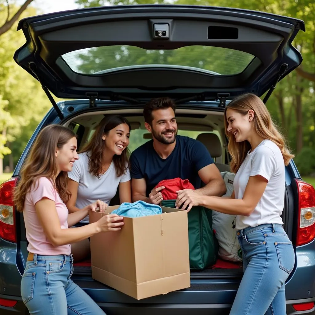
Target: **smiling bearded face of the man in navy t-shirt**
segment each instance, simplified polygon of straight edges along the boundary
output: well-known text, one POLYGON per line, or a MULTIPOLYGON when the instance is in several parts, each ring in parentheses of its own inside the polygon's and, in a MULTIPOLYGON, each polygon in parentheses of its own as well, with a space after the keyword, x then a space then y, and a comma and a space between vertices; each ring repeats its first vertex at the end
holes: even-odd
POLYGON ((152 133, 153 138, 163 144, 172 144, 177 135, 175 113, 171 107, 157 109, 152 112, 152 126, 146 123, 146 129, 152 133))

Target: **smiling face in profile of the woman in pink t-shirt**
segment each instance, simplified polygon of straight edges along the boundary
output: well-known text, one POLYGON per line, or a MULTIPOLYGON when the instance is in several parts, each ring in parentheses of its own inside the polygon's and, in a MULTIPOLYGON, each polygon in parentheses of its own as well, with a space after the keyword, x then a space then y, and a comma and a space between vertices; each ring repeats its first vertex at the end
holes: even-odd
POLYGON ((59 171, 72 171, 73 163, 79 158, 76 137, 71 138, 61 148, 57 148, 55 157, 59 171))

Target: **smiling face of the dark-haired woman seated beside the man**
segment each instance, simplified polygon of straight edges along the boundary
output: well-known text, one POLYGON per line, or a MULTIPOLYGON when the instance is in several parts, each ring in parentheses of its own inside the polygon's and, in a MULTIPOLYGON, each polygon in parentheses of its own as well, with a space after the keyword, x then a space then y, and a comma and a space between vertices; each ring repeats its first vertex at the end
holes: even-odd
POLYGON ((106 152, 121 155, 129 145, 130 130, 126 123, 121 123, 102 136, 105 140, 106 152))

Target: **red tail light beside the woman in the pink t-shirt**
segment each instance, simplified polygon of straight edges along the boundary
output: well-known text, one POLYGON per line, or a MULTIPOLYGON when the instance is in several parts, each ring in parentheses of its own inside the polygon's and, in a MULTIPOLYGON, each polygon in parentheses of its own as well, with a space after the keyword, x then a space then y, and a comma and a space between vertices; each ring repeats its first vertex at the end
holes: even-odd
POLYGON ((18 178, 13 177, 0 185, 0 238, 16 243, 13 192, 18 178))

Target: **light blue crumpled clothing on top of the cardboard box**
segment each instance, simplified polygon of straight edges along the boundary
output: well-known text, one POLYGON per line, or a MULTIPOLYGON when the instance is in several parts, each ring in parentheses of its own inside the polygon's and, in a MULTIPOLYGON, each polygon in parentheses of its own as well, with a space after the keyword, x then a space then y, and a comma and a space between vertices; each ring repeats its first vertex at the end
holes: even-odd
POLYGON ((145 215, 159 215, 162 214, 162 208, 157 204, 146 203, 142 200, 136 202, 124 202, 118 209, 112 211, 117 215, 136 218, 145 215))

